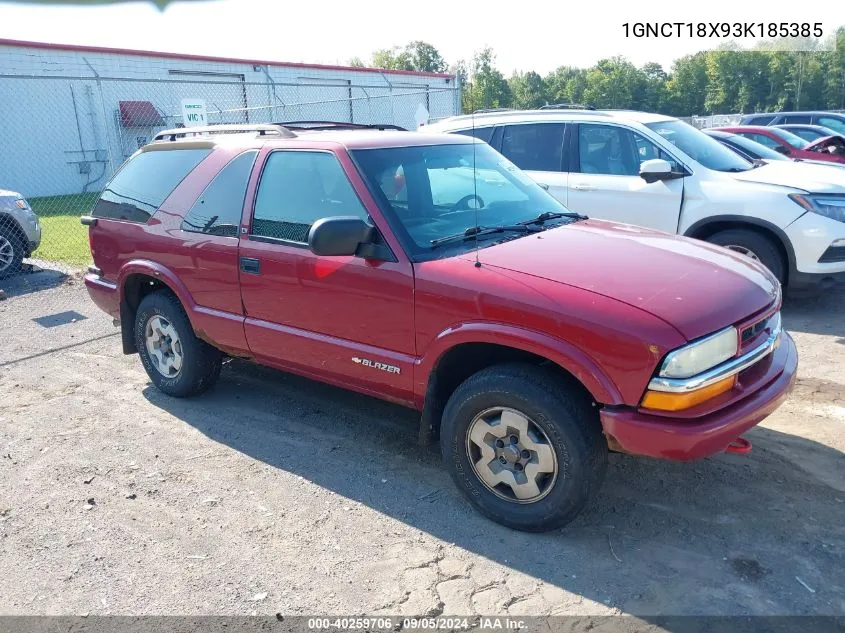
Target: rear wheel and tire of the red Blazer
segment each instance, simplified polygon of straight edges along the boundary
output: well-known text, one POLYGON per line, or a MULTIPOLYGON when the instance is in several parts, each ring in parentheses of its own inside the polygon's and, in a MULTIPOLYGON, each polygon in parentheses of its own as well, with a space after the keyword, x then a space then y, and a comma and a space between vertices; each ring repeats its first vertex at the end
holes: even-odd
POLYGON ((185 309, 169 290, 157 290, 141 300, 135 314, 135 345, 150 380, 169 396, 195 396, 214 386, 220 376, 222 353, 197 338, 185 309), (148 339, 157 352, 150 350, 148 339), (160 368, 167 360, 171 365, 165 372, 160 368))

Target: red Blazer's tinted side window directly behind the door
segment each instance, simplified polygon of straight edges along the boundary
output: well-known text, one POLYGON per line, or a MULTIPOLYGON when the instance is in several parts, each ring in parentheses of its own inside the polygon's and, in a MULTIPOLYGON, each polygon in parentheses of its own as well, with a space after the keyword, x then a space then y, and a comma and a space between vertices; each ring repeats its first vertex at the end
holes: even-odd
POLYGON ((237 237, 249 174, 258 151, 244 152, 229 161, 182 221, 182 230, 237 237))

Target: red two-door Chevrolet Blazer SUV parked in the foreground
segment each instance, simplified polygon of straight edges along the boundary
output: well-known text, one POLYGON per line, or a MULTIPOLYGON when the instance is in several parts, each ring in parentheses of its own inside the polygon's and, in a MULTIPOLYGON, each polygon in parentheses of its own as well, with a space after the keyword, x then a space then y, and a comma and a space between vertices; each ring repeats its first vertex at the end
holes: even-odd
POLYGON ((83 218, 90 295, 165 393, 227 355, 411 407, 467 498, 533 531, 609 450, 747 449, 786 398, 762 265, 571 213, 471 137, 336 127, 162 132, 83 218))

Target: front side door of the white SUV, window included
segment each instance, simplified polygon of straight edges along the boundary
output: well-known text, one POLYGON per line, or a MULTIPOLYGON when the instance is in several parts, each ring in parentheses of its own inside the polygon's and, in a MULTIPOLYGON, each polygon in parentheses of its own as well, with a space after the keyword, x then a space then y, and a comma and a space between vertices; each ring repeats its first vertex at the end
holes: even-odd
POLYGON ((650 140, 625 127, 579 123, 573 141, 566 206, 591 217, 677 233, 684 179, 647 183, 640 164, 674 162, 650 140))

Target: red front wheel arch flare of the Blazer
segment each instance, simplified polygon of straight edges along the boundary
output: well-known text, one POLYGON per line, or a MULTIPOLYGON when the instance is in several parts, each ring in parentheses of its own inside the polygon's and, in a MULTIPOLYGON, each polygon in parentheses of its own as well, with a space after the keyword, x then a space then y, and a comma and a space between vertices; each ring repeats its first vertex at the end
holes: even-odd
POLYGON ((485 367, 509 362, 546 367, 591 402, 623 402, 598 365, 565 341, 510 326, 464 325, 438 337, 419 364, 420 444, 437 437, 446 402, 464 380, 485 367))

